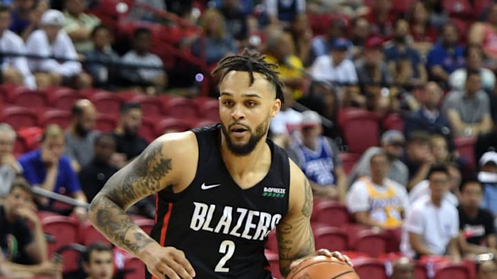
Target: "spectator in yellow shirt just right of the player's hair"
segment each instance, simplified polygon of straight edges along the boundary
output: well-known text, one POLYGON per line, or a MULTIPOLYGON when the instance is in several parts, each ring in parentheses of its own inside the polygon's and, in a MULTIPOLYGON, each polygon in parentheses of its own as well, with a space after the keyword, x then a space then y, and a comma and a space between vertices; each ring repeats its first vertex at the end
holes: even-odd
POLYGON ((293 55, 293 42, 290 34, 271 30, 266 42, 266 61, 278 65, 279 78, 292 90, 293 99, 302 97, 304 85, 304 65, 298 56, 293 55))

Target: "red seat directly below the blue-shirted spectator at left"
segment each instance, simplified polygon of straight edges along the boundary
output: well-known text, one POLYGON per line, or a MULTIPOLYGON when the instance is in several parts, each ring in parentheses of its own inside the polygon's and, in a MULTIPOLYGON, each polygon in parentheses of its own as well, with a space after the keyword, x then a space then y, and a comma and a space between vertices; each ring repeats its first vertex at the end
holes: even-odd
POLYGON ((57 249, 70 243, 78 242, 79 222, 68 216, 46 216, 41 219, 43 232, 55 239, 48 243, 48 255, 51 256, 57 249))

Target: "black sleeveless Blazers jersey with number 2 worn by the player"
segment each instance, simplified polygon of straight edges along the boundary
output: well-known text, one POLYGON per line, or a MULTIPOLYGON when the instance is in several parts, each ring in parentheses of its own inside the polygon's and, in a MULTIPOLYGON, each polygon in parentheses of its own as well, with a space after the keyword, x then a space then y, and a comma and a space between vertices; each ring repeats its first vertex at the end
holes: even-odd
POLYGON ((264 243, 289 207, 286 152, 268 139, 269 172, 260 183, 242 189, 222 160, 220 125, 193 132, 199 146, 195 178, 182 192, 166 188, 157 194, 151 236, 163 246, 184 251, 195 278, 272 278, 264 243))

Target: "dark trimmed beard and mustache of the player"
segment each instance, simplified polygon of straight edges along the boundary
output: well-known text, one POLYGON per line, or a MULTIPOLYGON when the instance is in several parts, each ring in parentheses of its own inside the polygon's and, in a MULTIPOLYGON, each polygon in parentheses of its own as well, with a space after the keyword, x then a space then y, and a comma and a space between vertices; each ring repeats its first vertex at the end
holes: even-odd
MULTIPOLYGON (((233 123, 230 125, 240 125, 239 123, 233 123)), ((237 145, 231 141, 230 133, 228 132, 228 129, 226 129, 226 126, 224 126, 223 123, 221 123, 221 131, 224 134, 224 138, 226 138, 226 145, 228 145, 228 149, 235 155, 237 156, 244 156, 251 154, 253 152, 253 149, 255 149, 255 146, 257 143, 260 142, 261 138, 266 135, 268 126, 269 126, 269 121, 264 121, 260 123, 257 127, 255 127, 255 132, 253 133, 252 130, 247 127, 246 125, 243 125, 247 131, 250 133, 250 138, 249 142, 245 143, 244 145, 237 145)))

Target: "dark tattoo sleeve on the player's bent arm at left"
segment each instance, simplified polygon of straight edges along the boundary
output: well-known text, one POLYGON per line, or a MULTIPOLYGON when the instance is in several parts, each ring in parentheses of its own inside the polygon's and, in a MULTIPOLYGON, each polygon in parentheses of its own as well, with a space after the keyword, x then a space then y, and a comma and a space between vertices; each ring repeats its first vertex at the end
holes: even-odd
POLYGON ((161 190, 160 180, 171 169, 171 159, 162 154, 162 143, 151 143, 135 161, 112 176, 92 200, 92 224, 115 245, 137 254, 154 240, 135 225, 125 210, 161 190))

